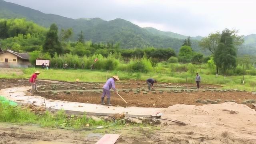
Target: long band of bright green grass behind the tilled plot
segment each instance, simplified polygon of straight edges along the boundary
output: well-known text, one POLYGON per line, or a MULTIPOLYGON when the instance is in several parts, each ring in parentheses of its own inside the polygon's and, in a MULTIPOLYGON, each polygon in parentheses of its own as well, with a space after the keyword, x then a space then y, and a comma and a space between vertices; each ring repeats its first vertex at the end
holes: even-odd
MULTIPOLYGON (((166 83, 194 83, 194 75, 188 72, 170 72, 168 68, 154 68, 154 72, 149 73, 130 73, 123 71, 95 71, 95 70, 62 70, 62 69, 50 69, 41 70, 40 68, 25 68, 22 69, 23 75, 16 74, 1 74, 0 78, 30 78, 30 76, 36 70, 39 70, 42 74, 38 76, 38 79, 46 80, 60 80, 74 82, 79 79, 81 82, 104 82, 106 78, 112 75, 118 75, 120 80, 146 80, 147 78, 154 78, 159 82, 166 83)), ((220 84, 224 86, 224 89, 233 88, 240 90, 256 91, 256 76, 245 76, 245 84, 241 84, 242 76, 218 76, 208 74, 208 70, 205 66, 201 66, 200 69, 196 70, 200 72, 202 82, 201 84, 220 84)))

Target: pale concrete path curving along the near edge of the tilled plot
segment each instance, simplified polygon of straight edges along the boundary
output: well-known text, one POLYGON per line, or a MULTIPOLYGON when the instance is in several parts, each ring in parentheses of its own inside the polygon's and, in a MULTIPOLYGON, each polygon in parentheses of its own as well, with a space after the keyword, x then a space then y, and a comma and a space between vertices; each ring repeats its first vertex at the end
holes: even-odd
MULTIPOLYGON (((5 96, 8 100, 20 102, 22 104, 31 104, 34 102, 36 106, 44 104, 44 98, 41 96, 29 96, 30 93, 26 92, 30 86, 22 86, 16 88, 7 88, 0 90, 0 96, 5 96)), ((99 98, 100 100, 100 98, 99 98)), ((45 99, 47 108, 74 110, 80 112, 96 112, 96 113, 125 113, 132 115, 150 115, 156 111, 161 111, 163 108, 139 108, 139 107, 120 107, 120 106, 102 106, 98 104, 67 102, 61 100, 48 100, 45 99)))

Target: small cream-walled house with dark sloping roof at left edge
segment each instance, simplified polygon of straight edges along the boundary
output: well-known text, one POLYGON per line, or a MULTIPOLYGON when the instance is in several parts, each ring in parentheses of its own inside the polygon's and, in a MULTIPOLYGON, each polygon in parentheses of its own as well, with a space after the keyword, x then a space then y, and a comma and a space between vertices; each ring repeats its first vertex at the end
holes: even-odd
POLYGON ((3 51, 0 49, 0 67, 2 68, 28 68, 31 66, 29 55, 14 52, 12 50, 3 51))

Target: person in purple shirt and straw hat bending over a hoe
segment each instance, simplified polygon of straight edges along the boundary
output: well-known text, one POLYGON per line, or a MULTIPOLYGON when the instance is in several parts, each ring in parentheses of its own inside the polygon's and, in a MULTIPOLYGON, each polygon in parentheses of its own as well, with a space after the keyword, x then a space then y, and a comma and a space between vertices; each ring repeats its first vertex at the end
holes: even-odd
POLYGON ((112 76, 112 78, 109 78, 105 85, 103 86, 103 94, 101 97, 101 104, 104 105, 104 97, 107 95, 107 105, 111 105, 110 104, 110 89, 112 88, 114 90, 114 92, 117 94, 116 91, 116 86, 115 86, 115 82, 118 81, 119 78, 118 76, 112 76))

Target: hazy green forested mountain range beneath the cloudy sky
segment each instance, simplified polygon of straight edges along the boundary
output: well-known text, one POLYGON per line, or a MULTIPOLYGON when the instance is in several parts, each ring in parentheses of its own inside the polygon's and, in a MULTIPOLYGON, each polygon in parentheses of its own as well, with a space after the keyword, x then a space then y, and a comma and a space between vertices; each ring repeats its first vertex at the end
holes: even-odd
MULTIPOLYGON (((173 32, 162 32, 155 28, 140 28, 129 21, 115 19, 105 21, 100 18, 80 18, 72 19, 55 14, 44 14, 38 10, 33 10, 18 4, 13 4, 0 0, 0 18, 26 18, 33 22, 49 27, 56 23, 59 28, 73 28, 72 40, 77 40, 80 31, 83 31, 86 40, 98 42, 120 43, 122 48, 145 48, 154 46, 155 48, 173 48, 176 52, 188 36, 173 32)), ((240 48, 238 54, 256 53, 256 35, 245 36, 245 44, 240 48)), ((206 54, 206 51, 198 46, 201 36, 191 38, 192 49, 206 54)), ((208 53, 210 54, 210 53, 208 53)))

